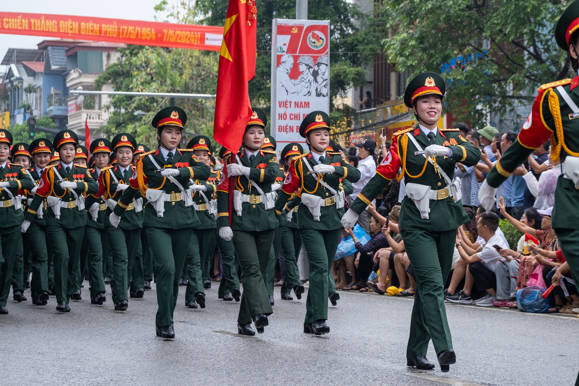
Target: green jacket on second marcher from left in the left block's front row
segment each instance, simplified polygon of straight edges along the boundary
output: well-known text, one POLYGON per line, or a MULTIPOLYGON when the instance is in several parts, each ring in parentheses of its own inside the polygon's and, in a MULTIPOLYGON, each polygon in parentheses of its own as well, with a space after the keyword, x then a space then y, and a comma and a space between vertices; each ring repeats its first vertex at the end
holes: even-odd
MULTIPOLYGON (((41 185, 36 190, 36 195, 32 199, 30 207, 26 213, 26 220, 32 221, 36 217, 36 210, 46 199, 47 196, 60 197, 63 202, 71 202, 75 200, 74 194, 72 194, 70 189, 64 190, 60 187, 60 182, 57 181, 55 170, 58 174, 66 181, 75 181, 76 189, 74 190, 78 196, 83 193, 94 194, 98 191, 97 182, 93 179, 90 173, 86 172, 85 166, 72 165, 70 173, 67 174, 63 164, 58 163, 58 165, 47 166, 45 172, 42 174, 41 185)), ((30 181, 30 178, 28 178, 30 181)), ((30 181, 32 184, 32 181, 30 181)), ((86 202, 85 202, 86 206, 86 202)), ((61 228, 78 228, 86 225, 86 213, 84 210, 78 210, 78 207, 67 208, 63 207, 60 209, 60 219, 54 217, 54 212, 49 206, 45 211, 43 217, 46 217, 46 225, 54 225, 61 228)))

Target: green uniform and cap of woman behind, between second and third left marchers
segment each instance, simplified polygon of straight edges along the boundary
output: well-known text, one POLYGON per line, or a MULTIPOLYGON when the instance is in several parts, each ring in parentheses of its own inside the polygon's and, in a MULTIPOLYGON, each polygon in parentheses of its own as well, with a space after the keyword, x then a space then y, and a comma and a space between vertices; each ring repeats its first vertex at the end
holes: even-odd
MULTIPOLYGON (((104 138, 97 138, 90 144, 91 154, 104 152, 111 153, 111 141, 104 138)), ((95 181, 100 179, 103 169, 87 169, 95 181)), ((108 248, 105 250, 103 245, 108 246, 107 232, 105 231, 105 213, 107 211, 107 200, 104 191, 99 187, 95 194, 86 195, 85 210, 87 215, 85 227, 85 240, 83 243, 88 245, 88 265, 89 265, 89 283, 90 283, 90 304, 102 304, 107 301, 105 296, 105 281, 102 270, 105 252, 108 255, 108 248)), ((82 272, 82 270, 81 270, 82 272)))

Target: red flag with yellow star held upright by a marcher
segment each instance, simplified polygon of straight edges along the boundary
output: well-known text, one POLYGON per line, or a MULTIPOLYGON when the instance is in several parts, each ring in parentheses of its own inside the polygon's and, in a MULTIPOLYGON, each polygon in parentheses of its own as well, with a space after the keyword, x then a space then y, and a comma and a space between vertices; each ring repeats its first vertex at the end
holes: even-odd
POLYGON ((254 0, 229 0, 219 52, 213 137, 233 154, 251 116, 247 82, 255 75, 256 12, 254 0))

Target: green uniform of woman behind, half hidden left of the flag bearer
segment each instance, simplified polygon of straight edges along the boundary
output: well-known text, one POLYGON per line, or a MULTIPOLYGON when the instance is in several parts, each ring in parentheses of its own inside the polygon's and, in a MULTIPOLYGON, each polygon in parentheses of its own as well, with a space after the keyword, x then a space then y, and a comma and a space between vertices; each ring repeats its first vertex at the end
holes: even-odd
MULTIPOLYGON (((196 136, 189 141, 187 148, 193 152, 210 152, 211 140, 207 136, 196 136)), ((194 191, 191 210, 195 210, 201 223, 193 229, 185 262, 186 275, 189 278, 185 290, 185 305, 189 308, 196 308, 195 301, 201 308, 205 308, 204 281, 209 279, 216 244, 217 205, 212 201, 212 195, 217 192, 217 180, 215 172, 211 172, 207 180, 189 180, 189 188, 194 191)))

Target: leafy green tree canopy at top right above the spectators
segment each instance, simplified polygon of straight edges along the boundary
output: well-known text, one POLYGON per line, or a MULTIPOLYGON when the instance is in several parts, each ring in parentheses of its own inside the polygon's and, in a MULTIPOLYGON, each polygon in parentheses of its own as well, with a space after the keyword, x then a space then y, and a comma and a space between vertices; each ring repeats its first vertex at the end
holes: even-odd
POLYGON ((512 113, 532 102, 541 83, 568 75, 553 36, 567 3, 384 0, 380 12, 394 32, 384 45, 400 71, 444 68, 447 111, 478 125, 487 112, 512 113))

